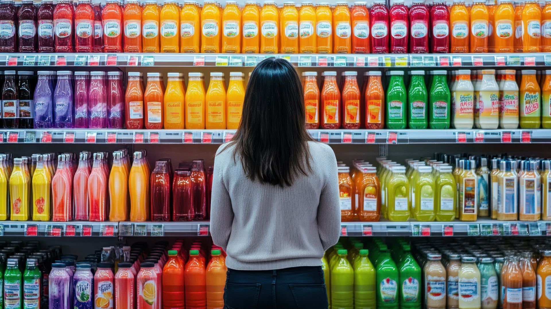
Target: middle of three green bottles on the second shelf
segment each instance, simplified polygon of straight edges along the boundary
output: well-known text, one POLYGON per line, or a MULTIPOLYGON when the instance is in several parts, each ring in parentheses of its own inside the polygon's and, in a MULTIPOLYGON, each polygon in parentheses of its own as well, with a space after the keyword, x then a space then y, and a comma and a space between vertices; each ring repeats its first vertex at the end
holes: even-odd
POLYGON ((428 102, 429 98, 425 86, 425 71, 412 71, 408 90, 409 129, 426 129, 429 125, 428 102))

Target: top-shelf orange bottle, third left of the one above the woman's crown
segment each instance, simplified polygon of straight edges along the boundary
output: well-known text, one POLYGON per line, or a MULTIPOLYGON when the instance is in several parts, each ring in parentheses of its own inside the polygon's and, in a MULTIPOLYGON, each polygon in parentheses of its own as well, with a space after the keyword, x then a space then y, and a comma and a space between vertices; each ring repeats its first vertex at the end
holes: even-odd
POLYGON ((205 1, 201 10, 201 52, 220 52, 222 12, 216 4, 205 1))

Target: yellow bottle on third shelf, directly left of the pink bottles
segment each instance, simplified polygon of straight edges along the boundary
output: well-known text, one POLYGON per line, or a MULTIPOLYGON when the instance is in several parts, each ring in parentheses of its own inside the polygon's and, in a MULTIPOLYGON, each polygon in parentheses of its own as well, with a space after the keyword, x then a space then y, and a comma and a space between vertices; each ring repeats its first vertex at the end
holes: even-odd
POLYGON ((33 174, 33 221, 50 221, 50 190, 52 178, 44 165, 42 155, 36 158, 36 168, 33 174))

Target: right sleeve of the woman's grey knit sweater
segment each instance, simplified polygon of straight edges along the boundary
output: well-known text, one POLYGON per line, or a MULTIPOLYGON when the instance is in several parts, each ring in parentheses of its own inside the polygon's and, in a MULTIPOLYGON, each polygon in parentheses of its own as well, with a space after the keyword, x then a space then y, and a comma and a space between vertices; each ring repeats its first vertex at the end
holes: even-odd
MULTIPOLYGON (((326 147, 329 148, 329 146, 326 147)), ((337 158, 331 148, 325 152, 325 155, 327 158, 325 186, 321 191, 320 205, 317 207, 317 228, 323 251, 337 243, 340 236, 339 228, 341 227, 337 158)))

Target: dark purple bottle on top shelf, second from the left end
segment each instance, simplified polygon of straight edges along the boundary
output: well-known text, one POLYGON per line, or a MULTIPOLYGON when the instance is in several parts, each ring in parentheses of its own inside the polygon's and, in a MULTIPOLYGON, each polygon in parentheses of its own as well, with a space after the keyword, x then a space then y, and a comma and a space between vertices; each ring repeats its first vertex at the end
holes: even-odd
POLYGON ((17 12, 19 52, 36 52, 36 7, 33 0, 23 0, 17 12))

